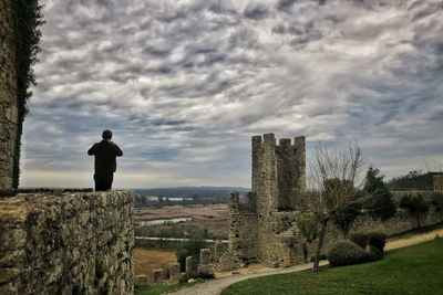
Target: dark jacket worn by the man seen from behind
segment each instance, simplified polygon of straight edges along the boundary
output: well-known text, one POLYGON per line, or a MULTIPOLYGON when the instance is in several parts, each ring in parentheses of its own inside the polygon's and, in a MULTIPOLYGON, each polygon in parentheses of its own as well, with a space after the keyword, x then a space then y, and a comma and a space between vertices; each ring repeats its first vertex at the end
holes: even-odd
POLYGON ((94 144, 87 155, 95 156, 95 175, 109 175, 115 172, 117 168, 116 157, 122 157, 123 151, 114 143, 102 140, 94 144))

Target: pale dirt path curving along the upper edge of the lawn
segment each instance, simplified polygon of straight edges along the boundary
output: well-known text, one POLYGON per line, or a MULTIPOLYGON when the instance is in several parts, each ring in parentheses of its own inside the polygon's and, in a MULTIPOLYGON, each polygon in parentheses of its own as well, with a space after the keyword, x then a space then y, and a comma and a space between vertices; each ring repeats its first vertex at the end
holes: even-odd
MULTIPOLYGON (((415 234, 398 240, 392 240, 388 241, 385 250, 393 250, 393 249, 399 249, 403 246, 409 246, 409 245, 414 245, 419 244, 422 242, 426 242, 430 240, 435 239, 435 235, 439 234, 440 236, 443 236, 443 229, 434 230, 427 233, 421 233, 421 234, 415 234)), ((327 261, 321 262, 320 265, 326 265, 328 264, 327 261)), ((218 295, 222 293, 224 288, 227 286, 248 280, 253 277, 260 277, 260 276, 267 276, 267 275, 274 275, 274 274, 286 274, 286 273, 295 273, 295 272, 301 272, 312 268, 312 263, 308 264, 302 264, 302 265, 296 265, 287 268, 277 268, 277 270, 256 270, 257 273, 250 273, 250 274, 235 274, 213 281, 205 282, 203 284, 197 284, 192 287, 186 287, 182 288, 179 291, 168 293, 168 295, 218 295), (265 273, 261 273, 264 272, 265 273)))

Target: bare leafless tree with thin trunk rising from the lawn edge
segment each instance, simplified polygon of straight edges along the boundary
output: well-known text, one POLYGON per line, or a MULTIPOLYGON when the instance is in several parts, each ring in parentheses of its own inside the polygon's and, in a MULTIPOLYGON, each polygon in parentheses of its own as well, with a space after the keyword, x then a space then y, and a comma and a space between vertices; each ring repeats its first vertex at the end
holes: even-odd
POLYGON ((347 150, 331 150, 323 145, 316 149, 315 162, 310 166, 309 206, 320 224, 316 259, 312 271, 318 272, 328 223, 332 218, 346 214, 347 208, 356 200, 356 191, 363 186, 360 179, 365 159, 357 143, 350 143, 347 150))

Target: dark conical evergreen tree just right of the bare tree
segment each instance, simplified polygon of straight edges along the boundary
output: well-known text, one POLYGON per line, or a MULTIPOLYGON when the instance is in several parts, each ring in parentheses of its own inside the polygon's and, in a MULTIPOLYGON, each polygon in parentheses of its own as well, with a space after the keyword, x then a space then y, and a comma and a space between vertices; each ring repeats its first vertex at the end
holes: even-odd
POLYGON ((384 176, 380 175, 379 169, 369 167, 363 188, 368 198, 363 208, 372 219, 387 221, 395 214, 396 207, 392 193, 384 183, 383 178, 384 176))

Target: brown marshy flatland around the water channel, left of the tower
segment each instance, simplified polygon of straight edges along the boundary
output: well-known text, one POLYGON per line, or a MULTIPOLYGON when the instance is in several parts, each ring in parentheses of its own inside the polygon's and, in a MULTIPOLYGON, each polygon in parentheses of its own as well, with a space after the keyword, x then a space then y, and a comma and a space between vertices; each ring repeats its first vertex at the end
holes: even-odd
POLYGON ((172 219, 189 217, 192 221, 186 221, 176 224, 163 224, 146 228, 143 235, 148 236, 167 236, 167 238, 187 238, 176 235, 174 233, 183 234, 188 232, 190 234, 200 234, 206 229, 212 239, 227 239, 228 234, 228 210, 226 204, 210 204, 210 206, 173 206, 164 207, 161 209, 135 209, 135 221, 156 220, 156 219, 172 219), (161 235, 158 233, 164 233, 161 235))

